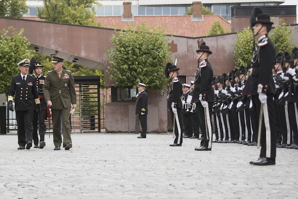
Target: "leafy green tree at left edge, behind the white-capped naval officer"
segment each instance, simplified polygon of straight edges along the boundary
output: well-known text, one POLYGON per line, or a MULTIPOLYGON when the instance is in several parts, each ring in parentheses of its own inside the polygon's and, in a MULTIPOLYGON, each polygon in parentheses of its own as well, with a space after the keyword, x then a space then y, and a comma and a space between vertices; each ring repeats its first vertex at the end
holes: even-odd
POLYGON ((1 94, 7 94, 12 76, 20 73, 17 63, 25 58, 30 59, 34 53, 33 50, 28 50, 30 43, 22 36, 23 32, 23 29, 17 32, 12 26, 0 31, 1 94))

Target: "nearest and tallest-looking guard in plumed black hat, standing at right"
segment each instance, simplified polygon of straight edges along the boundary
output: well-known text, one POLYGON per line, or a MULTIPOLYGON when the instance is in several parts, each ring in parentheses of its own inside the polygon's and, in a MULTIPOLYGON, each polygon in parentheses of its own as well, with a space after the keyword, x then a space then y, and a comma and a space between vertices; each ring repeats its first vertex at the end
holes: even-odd
POLYGON ((256 113, 256 126, 259 126, 259 122, 261 122, 261 152, 256 161, 249 162, 253 165, 275 165, 276 129, 273 106, 275 85, 272 77, 275 49, 267 36, 272 24, 270 16, 264 14, 261 8, 254 9, 251 16, 251 27, 253 35, 257 37, 257 43, 251 60, 249 77, 243 90, 244 95, 252 97, 253 109, 256 113), (263 119, 259 121, 261 107, 263 107, 263 119))

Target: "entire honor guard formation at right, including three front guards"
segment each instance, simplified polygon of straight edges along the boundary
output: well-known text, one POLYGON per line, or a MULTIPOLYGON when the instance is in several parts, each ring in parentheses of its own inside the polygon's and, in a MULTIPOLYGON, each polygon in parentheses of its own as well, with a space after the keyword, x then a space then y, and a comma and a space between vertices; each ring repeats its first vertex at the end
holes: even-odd
POLYGON ((165 66, 175 134, 170 146, 181 146, 182 137, 200 139, 196 151, 211 151, 212 142, 261 146, 252 165, 275 165, 276 147, 298 149, 298 49, 276 55, 268 38, 272 24, 261 8, 254 9, 250 27, 257 42, 247 66, 214 76, 205 43, 196 51, 198 68, 190 84, 181 84, 175 65, 165 66))

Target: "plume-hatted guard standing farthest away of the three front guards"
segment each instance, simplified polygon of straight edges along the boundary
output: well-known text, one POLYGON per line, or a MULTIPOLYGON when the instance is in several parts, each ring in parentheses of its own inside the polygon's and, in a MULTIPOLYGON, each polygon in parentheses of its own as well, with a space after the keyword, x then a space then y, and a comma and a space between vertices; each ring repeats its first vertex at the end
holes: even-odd
POLYGON ((174 143, 170 146, 182 146, 182 84, 178 78, 178 70, 175 65, 167 63, 164 69, 164 74, 167 78, 172 80, 168 92, 167 108, 171 111, 171 118, 173 123, 173 130, 175 134, 174 143))

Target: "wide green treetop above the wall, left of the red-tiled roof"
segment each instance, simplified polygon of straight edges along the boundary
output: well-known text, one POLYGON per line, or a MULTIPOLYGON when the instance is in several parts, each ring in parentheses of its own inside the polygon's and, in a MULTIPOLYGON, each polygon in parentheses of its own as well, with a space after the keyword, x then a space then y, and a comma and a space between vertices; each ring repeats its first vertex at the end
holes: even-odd
POLYGON ((95 22, 96 0, 43 0, 44 8, 38 9, 38 17, 46 21, 77 25, 99 26, 95 22))

